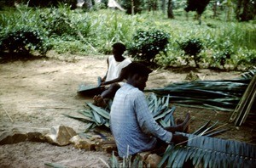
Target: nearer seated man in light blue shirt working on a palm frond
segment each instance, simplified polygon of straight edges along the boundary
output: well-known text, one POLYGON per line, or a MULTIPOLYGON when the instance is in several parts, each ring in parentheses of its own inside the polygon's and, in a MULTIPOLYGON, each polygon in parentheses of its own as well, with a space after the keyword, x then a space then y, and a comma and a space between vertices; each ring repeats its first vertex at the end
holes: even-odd
POLYGON ((113 98, 110 111, 110 128, 120 157, 143 151, 167 147, 169 143, 183 143, 188 137, 175 134, 188 126, 190 115, 177 126, 162 128, 148 110, 143 93, 152 70, 143 64, 131 63, 126 68, 126 83, 113 98))

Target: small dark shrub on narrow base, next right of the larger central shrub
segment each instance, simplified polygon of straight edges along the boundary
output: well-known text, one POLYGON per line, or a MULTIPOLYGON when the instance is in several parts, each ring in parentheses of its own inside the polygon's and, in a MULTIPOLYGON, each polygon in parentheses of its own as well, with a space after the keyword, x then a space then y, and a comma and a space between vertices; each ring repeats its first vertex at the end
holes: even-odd
POLYGON ((179 48, 184 52, 184 59, 187 64, 189 64, 189 59, 194 59, 196 67, 199 67, 199 62, 201 60, 201 50, 203 48, 203 43, 199 38, 190 38, 183 42, 178 42, 179 48), (189 56, 189 57, 188 57, 189 56))

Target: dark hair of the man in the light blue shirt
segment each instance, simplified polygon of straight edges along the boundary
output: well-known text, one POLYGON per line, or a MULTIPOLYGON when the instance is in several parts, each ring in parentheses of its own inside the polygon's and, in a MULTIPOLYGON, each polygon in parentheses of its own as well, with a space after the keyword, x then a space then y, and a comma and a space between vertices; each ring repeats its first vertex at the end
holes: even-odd
POLYGON ((128 64, 124 69, 125 78, 127 78, 128 76, 133 76, 135 74, 141 76, 148 76, 148 74, 152 72, 152 70, 150 70, 147 66, 139 62, 131 62, 131 64, 128 64))

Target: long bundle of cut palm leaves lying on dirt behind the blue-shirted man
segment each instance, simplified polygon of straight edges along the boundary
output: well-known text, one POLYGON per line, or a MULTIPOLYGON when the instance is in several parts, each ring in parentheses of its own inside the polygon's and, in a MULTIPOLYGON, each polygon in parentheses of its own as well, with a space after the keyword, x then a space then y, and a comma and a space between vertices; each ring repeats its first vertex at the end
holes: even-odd
POLYGON ((251 79, 191 81, 148 89, 159 96, 169 95, 170 103, 204 109, 232 111, 251 79))

